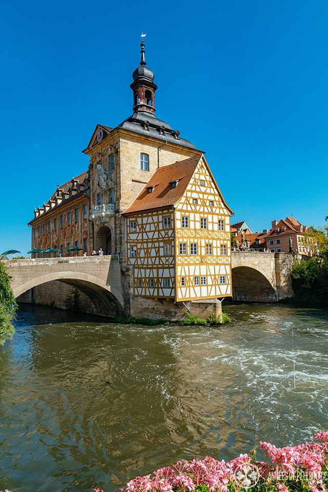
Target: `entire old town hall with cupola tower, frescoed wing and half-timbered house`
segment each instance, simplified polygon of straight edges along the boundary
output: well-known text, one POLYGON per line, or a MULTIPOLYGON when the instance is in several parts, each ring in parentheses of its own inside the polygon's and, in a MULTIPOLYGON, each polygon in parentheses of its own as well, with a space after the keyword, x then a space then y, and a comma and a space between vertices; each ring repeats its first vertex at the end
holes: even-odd
POLYGON ((231 296, 232 211, 202 152, 155 116, 143 40, 132 76, 132 116, 96 126, 89 169, 34 211, 32 249, 116 255, 126 314, 172 317, 185 301, 231 296))

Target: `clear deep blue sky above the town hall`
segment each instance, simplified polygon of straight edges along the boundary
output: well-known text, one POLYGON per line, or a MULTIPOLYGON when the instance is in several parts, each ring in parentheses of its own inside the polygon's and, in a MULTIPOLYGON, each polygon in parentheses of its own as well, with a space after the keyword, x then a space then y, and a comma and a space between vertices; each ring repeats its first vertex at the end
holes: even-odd
POLYGON ((328 215, 326 0, 0 4, 0 253, 88 168, 95 126, 132 113, 147 33, 156 115, 206 151, 232 222, 253 231, 328 215))

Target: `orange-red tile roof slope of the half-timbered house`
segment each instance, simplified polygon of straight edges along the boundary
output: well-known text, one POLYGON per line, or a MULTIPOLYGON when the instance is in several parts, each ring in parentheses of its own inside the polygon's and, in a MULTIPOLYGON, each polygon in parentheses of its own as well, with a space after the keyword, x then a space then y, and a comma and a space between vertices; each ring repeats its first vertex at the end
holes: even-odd
POLYGON ((175 162, 170 166, 158 168, 124 213, 129 214, 174 205, 185 193, 201 157, 202 154, 175 162), (177 183, 176 188, 171 189, 172 182, 177 183), (154 187, 153 191, 148 193, 148 189, 151 187, 154 187))

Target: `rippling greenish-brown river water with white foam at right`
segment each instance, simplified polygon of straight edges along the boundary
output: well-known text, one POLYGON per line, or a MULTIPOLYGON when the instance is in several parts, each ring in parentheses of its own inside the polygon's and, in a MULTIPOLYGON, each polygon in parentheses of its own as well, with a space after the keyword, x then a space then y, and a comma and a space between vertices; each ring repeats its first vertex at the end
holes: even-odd
POLYGON ((328 429, 328 311, 226 309, 223 327, 149 327, 20 305, 0 348, 0 490, 109 492, 328 429))

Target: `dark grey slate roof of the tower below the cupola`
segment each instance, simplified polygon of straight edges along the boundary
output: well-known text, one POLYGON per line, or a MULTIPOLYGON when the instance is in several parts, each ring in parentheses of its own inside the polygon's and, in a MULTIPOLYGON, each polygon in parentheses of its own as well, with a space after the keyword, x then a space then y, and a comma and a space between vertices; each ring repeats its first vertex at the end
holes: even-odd
POLYGON ((189 140, 184 138, 175 138, 175 131, 168 125, 165 121, 162 121, 152 113, 148 111, 136 111, 132 116, 123 121, 117 128, 123 128, 129 130, 130 132, 140 133, 141 135, 146 135, 159 140, 172 142, 176 145, 181 145, 182 147, 189 147, 190 149, 197 149, 189 140), (144 123, 148 121, 149 130, 145 130, 144 123), (164 135, 159 132, 160 127, 163 127, 164 135))

